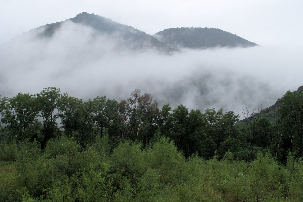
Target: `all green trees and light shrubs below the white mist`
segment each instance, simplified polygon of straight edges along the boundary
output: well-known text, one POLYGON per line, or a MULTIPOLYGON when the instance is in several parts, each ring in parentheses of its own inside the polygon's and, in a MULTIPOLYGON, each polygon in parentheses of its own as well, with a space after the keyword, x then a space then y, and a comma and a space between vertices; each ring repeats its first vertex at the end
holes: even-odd
POLYGON ((0 201, 303 201, 302 98, 288 91, 239 121, 159 108, 137 89, 0 97, 0 201))

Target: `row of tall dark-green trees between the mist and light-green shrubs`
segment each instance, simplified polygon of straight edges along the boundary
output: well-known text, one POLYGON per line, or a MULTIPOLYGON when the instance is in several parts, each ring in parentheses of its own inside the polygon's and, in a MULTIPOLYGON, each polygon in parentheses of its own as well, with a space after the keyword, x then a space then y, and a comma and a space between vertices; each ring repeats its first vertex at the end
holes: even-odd
POLYGON ((36 139, 42 149, 50 139, 65 135, 84 147, 95 137, 108 134, 112 147, 129 139, 151 140, 165 135, 180 151, 209 159, 223 157, 230 151, 236 159, 254 160, 258 151, 270 151, 284 162, 289 151, 303 153, 303 93, 288 91, 279 101, 279 123, 272 125, 258 110, 243 111, 244 125, 235 125, 239 116, 223 109, 188 110, 180 104, 161 109, 153 96, 136 89, 127 99, 116 101, 106 96, 88 101, 61 94, 55 87, 40 93, 18 93, 12 98, 0 97, 1 140, 36 139))

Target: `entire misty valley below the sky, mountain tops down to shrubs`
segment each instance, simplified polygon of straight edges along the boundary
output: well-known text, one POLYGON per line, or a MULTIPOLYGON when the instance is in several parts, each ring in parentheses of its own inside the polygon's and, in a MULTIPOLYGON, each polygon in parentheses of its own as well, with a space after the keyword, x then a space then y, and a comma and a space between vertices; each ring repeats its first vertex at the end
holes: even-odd
POLYGON ((0 201, 303 201, 295 50, 82 12, 0 53, 0 201))

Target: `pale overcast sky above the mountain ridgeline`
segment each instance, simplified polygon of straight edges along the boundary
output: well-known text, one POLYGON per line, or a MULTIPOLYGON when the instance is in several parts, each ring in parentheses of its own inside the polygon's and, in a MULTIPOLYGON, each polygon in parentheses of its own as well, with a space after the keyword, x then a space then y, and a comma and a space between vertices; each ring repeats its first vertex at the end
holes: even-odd
POLYGON ((302 0, 1 0, 0 44, 80 12, 101 15, 148 34, 165 28, 213 27, 259 45, 303 45, 302 0))

